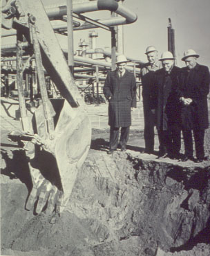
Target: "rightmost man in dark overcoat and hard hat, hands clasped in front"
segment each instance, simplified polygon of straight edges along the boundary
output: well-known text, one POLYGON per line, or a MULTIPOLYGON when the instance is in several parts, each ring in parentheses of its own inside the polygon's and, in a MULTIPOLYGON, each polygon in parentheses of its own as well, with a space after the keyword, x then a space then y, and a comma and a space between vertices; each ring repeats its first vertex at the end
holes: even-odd
POLYGON ((204 157, 204 131, 209 127, 207 95, 210 74, 206 66, 197 63, 199 55, 189 49, 182 60, 186 67, 180 73, 180 101, 182 103, 182 133, 184 138, 184 161, 193 159, 193 137, 195 140, 195 162, 204 157), (192 137, 193 131, 193 137, 192 137))

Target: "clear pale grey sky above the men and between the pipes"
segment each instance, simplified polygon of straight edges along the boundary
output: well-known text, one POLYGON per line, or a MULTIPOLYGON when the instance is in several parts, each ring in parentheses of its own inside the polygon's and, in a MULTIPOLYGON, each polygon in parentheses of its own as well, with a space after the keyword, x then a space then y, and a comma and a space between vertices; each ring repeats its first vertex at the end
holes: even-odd
MULTIPOLYGON (((106 0, 104 0, 106 1, 106 0)), ((45 5, 54 5, 58 0, 43 0, 45 5)), ((61 0, 61 3, 65 3, 61 0)), ((167 51, 167 26, 169 17, 175 30, 175 51, 177 64, 184 66, 181 58, 187 49, 194 49, 200 58, 198 62, 210 68, 210 0, 124 0, 124 6, 137 14, 137 21, 124 25, 124 54, 146 62, 145 49, 154 45, 159 56, 167 51)), ((85 14, 93 19, 110 17, 110 12, 99 11, 85 14)), ((93 30, 92 30, 93 31, 93 30)), ((94 29, 99 33, 97 48, 111 46, 111 33, 102 28, 94 29)), ((89 31, 75 31, 74 48, 78 49, 79 40, 88 42, 89 31)), ((11 41, 12 42, 12 41, 11 41)), ((59 37, 64 48, 67 40, 59 37)), ((4 40, 2 40, 4 44, 4 40)))

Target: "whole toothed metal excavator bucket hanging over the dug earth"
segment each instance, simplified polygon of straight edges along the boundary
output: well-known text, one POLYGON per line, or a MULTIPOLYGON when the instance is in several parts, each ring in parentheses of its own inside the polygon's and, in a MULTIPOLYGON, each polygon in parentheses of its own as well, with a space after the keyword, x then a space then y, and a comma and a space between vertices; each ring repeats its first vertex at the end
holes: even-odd
POLYGON ((32 121, 37 129, 33 137, 36 142, 28 142, 25 146, 33 183, 26 209, 32 210, 36 203, 36 213, 45 208, 49 213, 65 209, 77 172, 90 148, 91 126, 88 116, 77 108, 72 110, 64 99, 52 100, 52 105, 56 113, 54 132, 48 139, 44 139, 45 120, 40 105, 32 121), (37 144, 40 144, 41 151, 37 144))

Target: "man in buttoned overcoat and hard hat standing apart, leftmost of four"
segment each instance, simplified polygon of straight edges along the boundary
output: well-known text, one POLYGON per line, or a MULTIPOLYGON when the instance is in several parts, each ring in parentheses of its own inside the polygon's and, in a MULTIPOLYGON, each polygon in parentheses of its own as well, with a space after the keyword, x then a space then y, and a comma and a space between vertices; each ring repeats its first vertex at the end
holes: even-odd
POLYGON ((136 108, 136 83, 134 75, 126 70, 125 56, 117 56, 117 70, 108 72, 104 84, 104 95, 108 100, 108 125, 110 142, 108 154, 117 149, 121 127, 121 150, 126 151, 131 126, 131 108, 136 108))

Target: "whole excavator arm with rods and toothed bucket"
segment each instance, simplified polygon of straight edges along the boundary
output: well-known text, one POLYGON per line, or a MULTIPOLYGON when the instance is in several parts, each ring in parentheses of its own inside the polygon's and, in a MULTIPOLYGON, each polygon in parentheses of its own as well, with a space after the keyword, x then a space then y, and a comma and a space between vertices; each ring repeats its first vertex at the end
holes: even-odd
POLYGON ((77 172, 88 154, 90 119, 41 0, 4 0, 3 28, 17 30, 17 90, 21 131, 8 135, 23 146, 32 180, 26 210, 60 213, 68 204, 77 172), (28 60, 23 62, 23 46, 28 60), (23 71, 35 58, 40 103, 28 111, 23 71), (44 69, 62 98, 48 99, 44 69))

